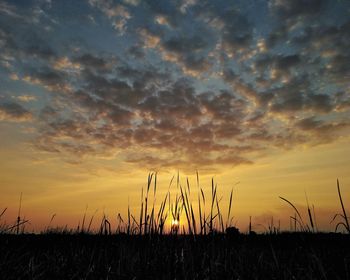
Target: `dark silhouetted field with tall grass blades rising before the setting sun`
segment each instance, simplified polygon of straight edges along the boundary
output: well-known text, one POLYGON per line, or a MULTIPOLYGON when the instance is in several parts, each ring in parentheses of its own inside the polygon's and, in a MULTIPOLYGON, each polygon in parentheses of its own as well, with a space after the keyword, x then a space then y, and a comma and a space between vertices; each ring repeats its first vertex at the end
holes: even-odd
POLYGON ((222 213, 214 180, 211 196, 205 197, 198 175, 196 195, 188 180, 182 187, 178 178, 171 188, 173 179, 156 207, 157 177, 150 174, 140 213, 128 209, 125 219, 118 214, 116 228, 104 216, 93 230, 94 216, 84 214, 76 229, 49 225, 32 234, 25 231, 28 221, 22 219, 20 206, 16 223, 0 227, 0 278, 350 279, 350 228, 339 182, 342 213, 332 222, 343 233, 319 232, 309 205, 303 219, 292 202, 280 197, 295 212, 290 217, 293 232, 281 232, 271 223, 263 233, 256 234, 249 225, 241 234, 232 226, 232 191, 228 213, 222 213))

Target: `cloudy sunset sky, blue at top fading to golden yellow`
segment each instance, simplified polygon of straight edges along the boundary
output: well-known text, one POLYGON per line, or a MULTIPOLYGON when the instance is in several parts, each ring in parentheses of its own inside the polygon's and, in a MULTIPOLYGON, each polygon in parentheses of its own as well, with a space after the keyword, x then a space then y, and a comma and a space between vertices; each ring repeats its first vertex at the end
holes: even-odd
POLYGON ((198 171, 224 204, 234 188, 242 230, 288 228, 278 196, 334 229, 349 47, 347 0, 0 1, 0 223, 21 193, 30 230, 113 220, 149 172, 165 193, 198 171))

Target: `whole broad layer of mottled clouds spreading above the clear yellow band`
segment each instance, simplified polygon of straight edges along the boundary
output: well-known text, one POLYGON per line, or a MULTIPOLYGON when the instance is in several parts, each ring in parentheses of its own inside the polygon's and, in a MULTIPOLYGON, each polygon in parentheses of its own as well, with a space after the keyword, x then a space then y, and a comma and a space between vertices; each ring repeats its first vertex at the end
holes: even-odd
MULTIPOLYGON (((28 103, 42 106, 38 149, 70 162, 209 168, 347 133, 349 21, 329 18, 323 1, 261 2, 254 13, 228 1, 90 0, 82 8, 93 26, 84 17, 45 32, 23 20, 0 27, 4 82, 45 96, 28 103)), ((2 118, 33 120, 20 108, 22 117, 2 108, 2 118)))

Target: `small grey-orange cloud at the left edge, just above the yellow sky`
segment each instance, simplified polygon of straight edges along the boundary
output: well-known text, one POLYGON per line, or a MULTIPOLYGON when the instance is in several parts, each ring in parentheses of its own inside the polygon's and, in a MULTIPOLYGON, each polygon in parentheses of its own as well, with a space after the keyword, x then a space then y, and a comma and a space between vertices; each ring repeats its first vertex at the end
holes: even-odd
POLYGON ((0 121, 27 122, 32 118, 32 113, 18 103, 0 103, 0 121))

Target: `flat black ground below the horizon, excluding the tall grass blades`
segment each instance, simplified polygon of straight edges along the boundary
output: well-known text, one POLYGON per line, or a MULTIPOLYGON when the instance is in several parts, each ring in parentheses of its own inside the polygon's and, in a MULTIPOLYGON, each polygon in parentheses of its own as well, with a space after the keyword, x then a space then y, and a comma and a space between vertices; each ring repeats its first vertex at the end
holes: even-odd
POLYGON ((350 279, 350 236, 0 235, 1 279, 350 279))

